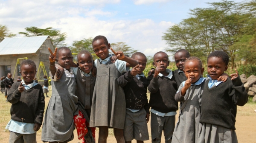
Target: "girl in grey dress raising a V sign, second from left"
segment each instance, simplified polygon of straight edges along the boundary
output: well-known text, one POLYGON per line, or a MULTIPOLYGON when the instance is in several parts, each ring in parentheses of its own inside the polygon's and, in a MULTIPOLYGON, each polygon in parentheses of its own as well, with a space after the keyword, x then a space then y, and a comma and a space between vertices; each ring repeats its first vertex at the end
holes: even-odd
POLYGON ((73 140, 75 129, 73 115, 78 115, 78 97, 76 92, 76 79, 73 74, 73 56, 67 47, 55 48, 49 56, 50 77, 52 79, 52 96, 50 98, 42 128, 43 142, 67 143, 73 140), (57 79, 55 61, 64 68, 65 74, 57 79))

